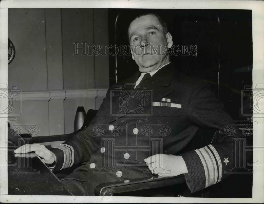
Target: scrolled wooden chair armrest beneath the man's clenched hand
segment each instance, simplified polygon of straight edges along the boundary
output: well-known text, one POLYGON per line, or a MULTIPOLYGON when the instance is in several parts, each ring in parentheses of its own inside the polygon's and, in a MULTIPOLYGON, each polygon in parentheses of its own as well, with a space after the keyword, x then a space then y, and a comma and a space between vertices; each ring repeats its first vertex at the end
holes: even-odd
POLYGON ((113 196, 116 193, 165 187, 182 183, 185 183, 185 177, 183 174, 175 177, 159 177, 158 175, 154 175, 151 177, 99 184, 95 188, 95 195, 113 196))

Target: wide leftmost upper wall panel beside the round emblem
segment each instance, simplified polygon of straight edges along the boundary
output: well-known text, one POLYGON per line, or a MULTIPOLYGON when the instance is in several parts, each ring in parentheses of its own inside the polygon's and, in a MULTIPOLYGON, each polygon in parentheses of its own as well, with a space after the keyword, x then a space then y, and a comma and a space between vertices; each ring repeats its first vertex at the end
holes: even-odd
POLYGON ((8 9, 8 37, 16 49, 8 65, 8 85, 22 91, 47 90, 44 8, 8 9))

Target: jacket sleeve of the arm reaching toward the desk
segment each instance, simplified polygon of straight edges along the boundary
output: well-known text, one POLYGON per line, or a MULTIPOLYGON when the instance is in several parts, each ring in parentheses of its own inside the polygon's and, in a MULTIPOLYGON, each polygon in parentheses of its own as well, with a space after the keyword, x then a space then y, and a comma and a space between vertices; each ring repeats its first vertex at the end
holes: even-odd
MULTIPOLYGON (((108 95, 109 91, 106 96, 108 95)), ((107 100, 107 97, 103 99, 96 116, 85 130, 78 132, 64 143, 50 149, 56 156, 54 172, 88 161, 91 155, 100 148, 101 136, 94 133, 94 127, 97 124, 104 124, 105 119, 109 117, 106 110, 107 100)))

